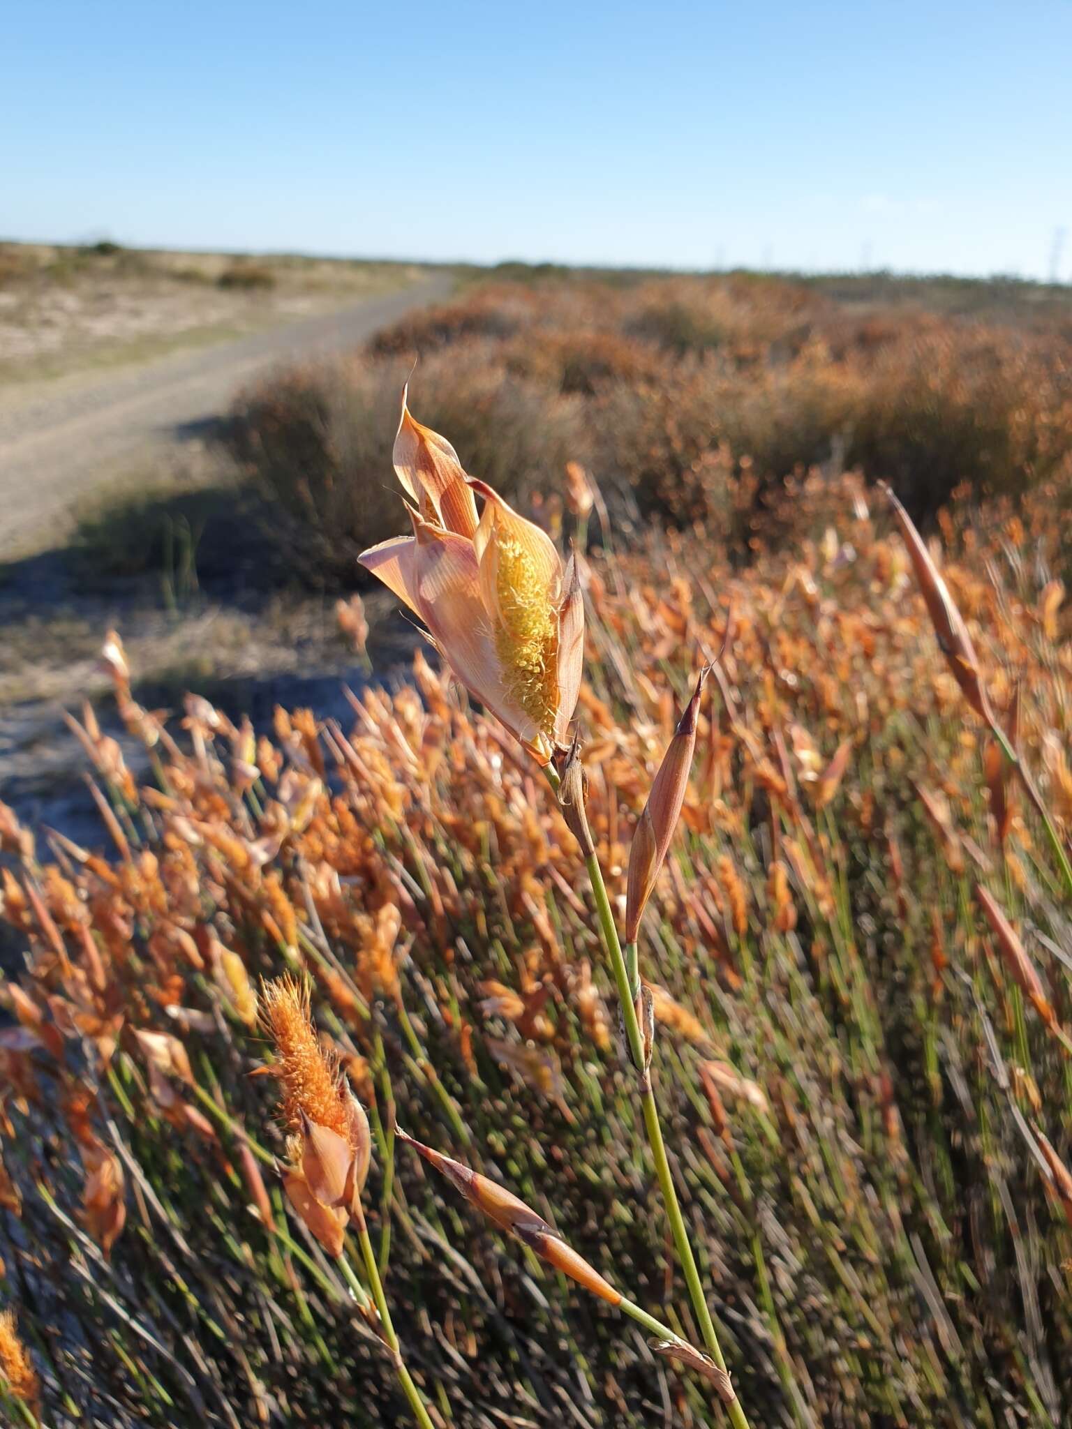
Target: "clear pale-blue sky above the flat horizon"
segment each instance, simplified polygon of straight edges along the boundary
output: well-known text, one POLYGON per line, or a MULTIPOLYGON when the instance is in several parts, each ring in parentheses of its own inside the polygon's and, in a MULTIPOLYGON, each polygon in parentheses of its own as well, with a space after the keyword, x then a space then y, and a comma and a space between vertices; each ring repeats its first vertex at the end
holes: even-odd
POLYGON ((1045 276, 1072 4, 13 0, 0 236, 1045 276))

